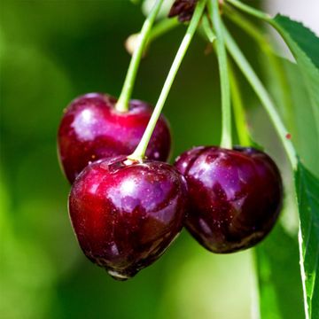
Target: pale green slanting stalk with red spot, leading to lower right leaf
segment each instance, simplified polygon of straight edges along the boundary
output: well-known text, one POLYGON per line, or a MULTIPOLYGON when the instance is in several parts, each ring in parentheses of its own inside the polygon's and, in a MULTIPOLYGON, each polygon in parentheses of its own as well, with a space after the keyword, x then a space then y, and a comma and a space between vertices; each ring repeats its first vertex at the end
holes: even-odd
POLYGON ((226 27, 224 27, 224 37, 227 49, 230 51, 230 55, 237 63, 237 66, 245 75, 247 81, 252 85, 253 90, 261 100, 261 104, 265 107, 270 120, 273 122, 277 134, 284 144, 284 149, 288 155, 288 159, 292 164, 292 168, 297 168, 297 154, 293 147, 292 141, 286 138, 287 129, 284 127, 284 123, 281 120, 279 114, 276 111, 276 106, 268 95, 267 89, 261 83, 257 74, 253 71, 253 67, 249 64, 242 51, 240 51, 237 43, 234 41, 226 27))

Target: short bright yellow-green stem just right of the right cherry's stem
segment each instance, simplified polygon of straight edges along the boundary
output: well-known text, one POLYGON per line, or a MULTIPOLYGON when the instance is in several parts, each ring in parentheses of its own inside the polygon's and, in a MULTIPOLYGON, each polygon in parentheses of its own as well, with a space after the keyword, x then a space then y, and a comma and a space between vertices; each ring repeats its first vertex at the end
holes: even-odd
POLYGON ((243 100, 240 94, 240 89, 238 86, 236 75, 232 67, 230 68, 230 90, 233 110, 235 114, 235 123, 237 128, 237 136, 239 139, 239 144, 242 146, 250 146, 251 138, 249 130, 247 128, 247 121, 245 119, 245 108, 243 105, 243 100))

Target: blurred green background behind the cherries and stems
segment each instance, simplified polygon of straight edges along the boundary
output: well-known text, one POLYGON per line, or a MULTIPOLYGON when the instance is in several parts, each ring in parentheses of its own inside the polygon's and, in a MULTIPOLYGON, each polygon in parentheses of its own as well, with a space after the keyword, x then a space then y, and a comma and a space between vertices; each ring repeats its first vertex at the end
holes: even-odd
MULTIPOLYGON (((1 3, 2 319, 250 316, 250 251, 214 255, 183 231, 158 262, 122 283, 90 263, 76 243, 66 209, 70 186, 58 167, 58 123, 74 97, 119 95, 130 58, 123 43, 143 20, 140 7, 124 0, 1 3)), ((134 97, 156 103, 184 30, 152 43, 134 97)), ((232 30, 263 74, 258 48, 232 30)), ((217 70, 213 52, 197 36, 164 109, 174 136, 172 159, 193 145, 219 143, 217 70)), ((242 90, 259 141, 284 169, 266 115, 247 85, 242 90)))

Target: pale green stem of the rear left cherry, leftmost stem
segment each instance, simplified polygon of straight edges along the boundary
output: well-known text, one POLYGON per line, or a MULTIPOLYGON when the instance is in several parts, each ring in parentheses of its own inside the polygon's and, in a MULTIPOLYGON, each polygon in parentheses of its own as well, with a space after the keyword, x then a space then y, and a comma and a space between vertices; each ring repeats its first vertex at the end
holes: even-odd
POLYGON ((126 75, 123 88, 121 90, 121 95, 117 104, 115 105, 115 109, 119 112, 127 112, 129 108, 129 99, 132 95, 134 82, 136 80, 136 74, 138 70, 138 66, 140 64, 141 58, 143 56, 144 47, 147 43, 147 39, 152 30, 152 25, 159 13, 159 9, 164 0, 157 0, 148 17, 144 21, 144 25, 141 29, 141 32, 138 35, 138 41, 136 45, 136 50, 133 53, 133 56, 130 60, 128 66, 128 73, 126 75))

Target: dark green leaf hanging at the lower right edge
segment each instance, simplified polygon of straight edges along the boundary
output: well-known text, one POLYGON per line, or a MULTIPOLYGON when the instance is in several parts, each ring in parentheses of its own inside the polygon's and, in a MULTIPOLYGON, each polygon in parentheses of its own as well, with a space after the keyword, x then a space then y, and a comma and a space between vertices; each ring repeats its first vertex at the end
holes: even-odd
POLYGON ((300 209, 300 263, 309 318, 319 314, 319 179, 299 162, 295 174, 300 209))

